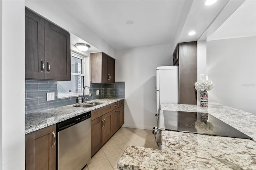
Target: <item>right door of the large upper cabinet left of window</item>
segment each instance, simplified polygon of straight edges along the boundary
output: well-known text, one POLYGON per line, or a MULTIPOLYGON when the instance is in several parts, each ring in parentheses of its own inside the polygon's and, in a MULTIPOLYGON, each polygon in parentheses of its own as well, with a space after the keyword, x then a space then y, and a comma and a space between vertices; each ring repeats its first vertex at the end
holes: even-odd
POLYGON ((70 81, 70 34, 44 21, 45 79, 70 81))

